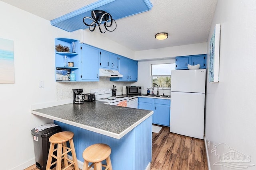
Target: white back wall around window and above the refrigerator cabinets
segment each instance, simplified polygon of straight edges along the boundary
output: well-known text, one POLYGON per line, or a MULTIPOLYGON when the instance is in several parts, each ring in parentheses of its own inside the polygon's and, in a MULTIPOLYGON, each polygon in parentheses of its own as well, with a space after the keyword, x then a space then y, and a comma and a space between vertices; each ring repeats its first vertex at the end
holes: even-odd
MULTIPOLYGON (((136 51, 135 60, 138 61, 138 82, 131 83, 132 86, 144 86, 142 93, 146 93, 147 89, 150 88, 151 93, 151 64, 175 63, 175 57, 177 56, 206 54, 206 46, 207 43, 198 43, 161 49, 136 51)), ((170 89, 168 88, 165 90, 160 88, 159 94, 163 94, 163 92, 165 95, 170 95, 170 89)), ((156 90, 154 90, 154 94, 156 94, 156 90)))

